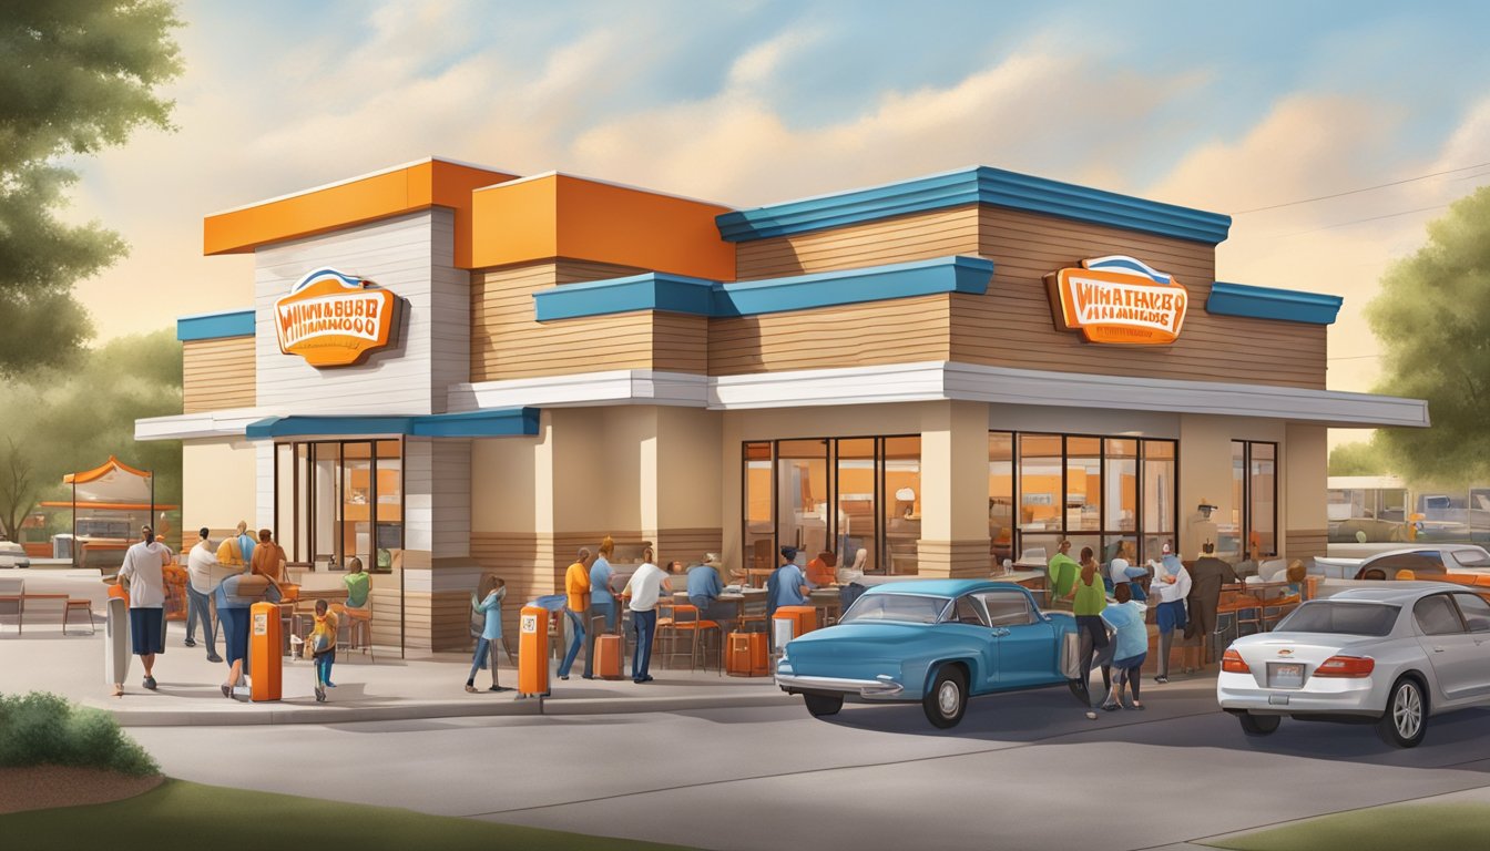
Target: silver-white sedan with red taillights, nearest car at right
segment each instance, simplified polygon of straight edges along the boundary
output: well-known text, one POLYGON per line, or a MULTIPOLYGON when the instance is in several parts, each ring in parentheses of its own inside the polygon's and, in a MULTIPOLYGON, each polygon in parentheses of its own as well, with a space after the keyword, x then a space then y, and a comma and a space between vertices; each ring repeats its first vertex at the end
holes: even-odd
POLYGON ((1423 741, 1429 715, 1490 705, 1490 602, 1441 583, 1390 583, 1308 601, 1222 657, 1216 700, 1250 736, 1292 718, 1375 723, 1423 741))

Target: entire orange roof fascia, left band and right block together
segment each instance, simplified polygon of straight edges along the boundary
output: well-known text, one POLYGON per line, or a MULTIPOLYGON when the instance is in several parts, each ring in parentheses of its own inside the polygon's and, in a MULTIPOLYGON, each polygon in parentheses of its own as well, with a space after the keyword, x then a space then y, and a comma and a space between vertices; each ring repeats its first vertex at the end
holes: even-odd
POLYGON ((569 174, 516 179, 444 159, 207 216, 203 253, 247 253, 432 206, 456 210, 460 268, 568 258, 735 280, 735 244, 715 225, 730 207, 569 174))

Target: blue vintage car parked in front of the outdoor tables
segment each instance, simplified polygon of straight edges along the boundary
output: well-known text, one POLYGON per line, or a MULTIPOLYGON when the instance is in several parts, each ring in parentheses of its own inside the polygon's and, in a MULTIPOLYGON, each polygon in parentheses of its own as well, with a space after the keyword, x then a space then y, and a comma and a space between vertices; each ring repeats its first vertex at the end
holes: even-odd
MULTIPOLYGON (((919 700, 937 727, 963 720, 967 697, 1085 686, 1062 674, 1076 619, 1043 613, 1024 587, 988 580, 915 580, 864 592, 836 626, 787 644, 776 684, 815 717, 843 699, 919 700)), ((1067 660, 1068 662, 1068 660, 1067 660)))

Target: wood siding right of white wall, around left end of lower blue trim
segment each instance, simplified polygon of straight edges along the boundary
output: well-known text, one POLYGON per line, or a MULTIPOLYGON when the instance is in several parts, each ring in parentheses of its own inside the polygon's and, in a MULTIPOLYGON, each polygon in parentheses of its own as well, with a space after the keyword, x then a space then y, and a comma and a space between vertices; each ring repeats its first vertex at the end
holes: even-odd
POLYGON ((560 259, 471 274, 471 380, 495 382, 603 370, 703 373, 708 320, 623 313, 539 323, 533 292, 641 270, 560 259))

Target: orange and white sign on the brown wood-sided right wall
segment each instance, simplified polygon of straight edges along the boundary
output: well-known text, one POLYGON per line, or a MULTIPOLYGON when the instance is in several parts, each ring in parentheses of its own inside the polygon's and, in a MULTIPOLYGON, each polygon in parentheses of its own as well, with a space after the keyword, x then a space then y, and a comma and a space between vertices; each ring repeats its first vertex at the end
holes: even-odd
POLYGON ((1185 325, 1189 294, 1173 276, 1131 256, 1083 259, 1082 268, 1044 276, 1050 313, 1061 331, 1088 343, 1162 346, 1185 325))

